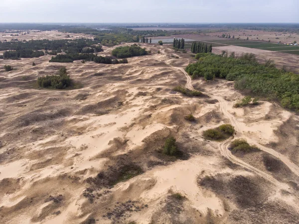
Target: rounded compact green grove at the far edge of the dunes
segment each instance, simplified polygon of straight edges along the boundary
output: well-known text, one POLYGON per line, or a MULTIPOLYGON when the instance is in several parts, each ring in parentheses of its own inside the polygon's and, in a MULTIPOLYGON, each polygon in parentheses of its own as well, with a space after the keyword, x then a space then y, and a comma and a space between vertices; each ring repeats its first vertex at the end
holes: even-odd
POLYGON ((146 50, 146 48, 142 48, 137 44, 133 44, 131 46, 116 47, 112 51, 112 55, 118 58, 141 56, 148 53, 149 52, 146 50))

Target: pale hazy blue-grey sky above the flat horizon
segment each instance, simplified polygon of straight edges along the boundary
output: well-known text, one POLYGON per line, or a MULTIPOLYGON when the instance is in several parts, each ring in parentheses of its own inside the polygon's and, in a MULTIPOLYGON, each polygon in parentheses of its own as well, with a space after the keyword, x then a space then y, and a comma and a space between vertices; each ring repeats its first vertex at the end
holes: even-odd
POLYGON ((0 22, 299 22, 299 0, 0 0, 0 22))

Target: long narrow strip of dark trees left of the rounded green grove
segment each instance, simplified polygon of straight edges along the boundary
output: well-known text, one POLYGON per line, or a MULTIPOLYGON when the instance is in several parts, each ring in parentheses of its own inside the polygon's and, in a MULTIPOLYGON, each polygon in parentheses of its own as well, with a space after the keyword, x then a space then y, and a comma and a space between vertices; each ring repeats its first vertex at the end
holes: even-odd
POLYGON ((128 60, 124 58, 123 60, 112 59, 109 56, 97 56, 95 54, 58 54, 55 57, 52 57, 49 62, 59 62, 59 63, 70 63, 75 60, 83 61, 94 61, 101 64, 127 64, 128 60))

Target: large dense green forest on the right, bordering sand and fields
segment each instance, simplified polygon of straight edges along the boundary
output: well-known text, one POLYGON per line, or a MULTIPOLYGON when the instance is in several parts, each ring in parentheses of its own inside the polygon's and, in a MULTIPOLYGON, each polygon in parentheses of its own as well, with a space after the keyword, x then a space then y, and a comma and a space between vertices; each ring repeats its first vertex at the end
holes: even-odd
POLYGON ((260 64, 252 53, 239 57, 199 53, 196 58, 198 62, 186 67, 192 78, 234 80, 237 89, 279 100, 283 107, 299 111, 299 74, 278 69, 271 60, 260 64))

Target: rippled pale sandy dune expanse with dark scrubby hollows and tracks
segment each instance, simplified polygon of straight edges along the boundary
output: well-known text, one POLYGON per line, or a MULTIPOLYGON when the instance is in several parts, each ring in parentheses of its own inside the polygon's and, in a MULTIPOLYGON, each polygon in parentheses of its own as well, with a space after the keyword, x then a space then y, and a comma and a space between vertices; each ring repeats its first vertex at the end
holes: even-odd
POLYGON ((189 54, 144 46, 151 54, 129 64, 0 60, 16 68, 0 70, 1 223, 299 223, 299 117, 270 102, 233 108, 231 82, 191 81, 189 54), (34 87, 63 65, 82 88, 34 87), (202 138, 224 123, 261 151, 232 155, 232 139, 202 138), (170 135, 178 158, 161 153, 170 135))

